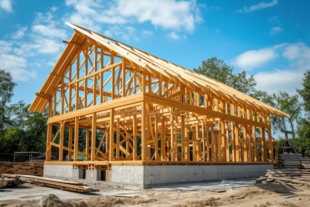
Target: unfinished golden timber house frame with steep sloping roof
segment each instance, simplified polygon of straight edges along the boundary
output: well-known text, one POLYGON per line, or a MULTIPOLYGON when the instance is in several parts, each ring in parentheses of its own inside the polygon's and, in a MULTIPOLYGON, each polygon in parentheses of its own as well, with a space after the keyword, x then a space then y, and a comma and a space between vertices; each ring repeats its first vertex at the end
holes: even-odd
POLYGON ((110 170, 113 165, 277 162, 270 115, 288 114, 66 24, 75 32, 63 41, 66 48, 29 108, 41 113, 49 106, 46 163, 110 170))

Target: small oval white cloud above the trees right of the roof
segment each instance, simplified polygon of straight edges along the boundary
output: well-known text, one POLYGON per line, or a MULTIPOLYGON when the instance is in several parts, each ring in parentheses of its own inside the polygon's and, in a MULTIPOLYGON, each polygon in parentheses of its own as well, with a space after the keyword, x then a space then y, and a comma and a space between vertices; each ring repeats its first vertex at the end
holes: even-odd
POLYGON ((253 69, 278 57, 275 48, 263 48, 260 50, 250 50, 235 58, 233 64, 241 69, 253 69))

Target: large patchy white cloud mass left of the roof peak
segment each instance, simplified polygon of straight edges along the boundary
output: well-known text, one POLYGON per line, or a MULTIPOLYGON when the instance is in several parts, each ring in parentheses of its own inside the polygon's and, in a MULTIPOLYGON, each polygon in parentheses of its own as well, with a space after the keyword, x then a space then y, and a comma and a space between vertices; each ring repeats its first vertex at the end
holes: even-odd
POLYGON ((44 55, 50 56, 51 60, 58 57, 65 46, 61 39, 67 38, 67 34, 65 30, 58 29, 59 22, 54 21, 51 12, 36 13, 31 30, 27 26, 17 27, 18 30, 8 36, 11 38, 9 41, 0 40, 1 69, 9 71, 15 81, 28 81, 37 77, 36 69, 49 64, 42 61, 44 55), (32 57, 39 58, 35 60, 32 57))

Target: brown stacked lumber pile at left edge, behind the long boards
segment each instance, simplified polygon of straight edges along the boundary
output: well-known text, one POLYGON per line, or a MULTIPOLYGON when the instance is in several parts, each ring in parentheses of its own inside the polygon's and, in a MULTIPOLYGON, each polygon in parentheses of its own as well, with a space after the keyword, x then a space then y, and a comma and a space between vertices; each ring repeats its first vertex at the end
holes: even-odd
POLYGON ((44 163, 0 163, 0 176, 1 174, 22 174, 22 175, 35 175, 43 177, 44 163))

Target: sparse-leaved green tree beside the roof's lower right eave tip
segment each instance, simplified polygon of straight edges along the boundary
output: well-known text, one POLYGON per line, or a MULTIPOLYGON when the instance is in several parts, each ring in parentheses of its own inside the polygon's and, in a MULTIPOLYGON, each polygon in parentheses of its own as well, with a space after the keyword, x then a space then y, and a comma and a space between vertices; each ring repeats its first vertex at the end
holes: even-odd
POLYGON ((299 102, 299 96, 297 94, 290 96, 285 91, 278 91, 277 93, 273 93, 271 95, 264 93, 262 101, 290 115, 290 118, 285 116, 270 116, 273 131, 291 131, 293 132, 293 138, 295 138, 295 125, 301 119, 302 110, 302 104, 299 102))

